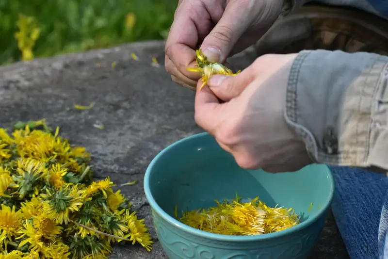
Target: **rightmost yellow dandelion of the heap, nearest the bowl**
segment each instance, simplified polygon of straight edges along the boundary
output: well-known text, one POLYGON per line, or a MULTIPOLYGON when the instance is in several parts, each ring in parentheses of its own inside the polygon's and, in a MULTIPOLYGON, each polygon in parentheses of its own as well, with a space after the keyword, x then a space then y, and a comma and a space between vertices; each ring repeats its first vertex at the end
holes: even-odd
POLYGON ((129 229, 129 234, 125 237, 129 238, 129 240, 132 241, 132 244, 136 242, 140 243, 147 251, 151 251, 153 242, 151 236, 147 232, 148 229, 144 224, 144 219, 139 220, 137 219, 135 211, 130 213, 129 210, 126 210, 123 220, 127 223, 129 229))

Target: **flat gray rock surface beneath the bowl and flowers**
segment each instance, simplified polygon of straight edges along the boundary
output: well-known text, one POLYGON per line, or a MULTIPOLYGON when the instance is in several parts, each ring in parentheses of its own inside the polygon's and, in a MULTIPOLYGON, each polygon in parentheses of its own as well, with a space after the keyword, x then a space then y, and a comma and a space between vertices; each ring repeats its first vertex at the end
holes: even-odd
MULTIPOLYGON (((153 251, 140 246, 114 248, 114 259, 164 259, 143 192, 148 163, 164 147, 201 132, 194 122, 194 92, 173 83, 165 72, 163 42, 144 42, 87 53, 0 67, 0 125, 46 118, 61 134, 92 153, 96 178, 110 176, 121 187, 155 239, 153 251), (134 52, 138 61, 131 59, 134 52), (151 65, 156 57, 160 67, 151 65), (115 62, 116 65, 112 66, 115 62), (73 105, 89 105, 75 110, 73 105), (103 124, 104 129, 93 125, 103 124)), ((252 49, 229 63, 244 68, 252 49)), ((332 216, 311 259, 349 258, 332 216)))

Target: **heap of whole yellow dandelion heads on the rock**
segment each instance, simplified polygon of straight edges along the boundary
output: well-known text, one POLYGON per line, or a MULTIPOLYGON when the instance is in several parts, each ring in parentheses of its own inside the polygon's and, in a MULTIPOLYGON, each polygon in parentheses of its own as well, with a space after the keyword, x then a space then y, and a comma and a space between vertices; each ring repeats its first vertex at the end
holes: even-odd
POLYGON ((0 259, 104 259, 119 242, 150 251, 130 202, 58 133, 44 120, 0 128, 0 259))

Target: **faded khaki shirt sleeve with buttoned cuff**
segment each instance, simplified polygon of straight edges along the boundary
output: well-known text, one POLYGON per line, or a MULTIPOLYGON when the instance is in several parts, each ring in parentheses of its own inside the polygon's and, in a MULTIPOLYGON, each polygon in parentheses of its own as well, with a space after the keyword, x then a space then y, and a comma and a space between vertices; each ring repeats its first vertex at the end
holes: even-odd
POLYGON ((388 169, 387 87, 387 56, 301 51, 285 118, 316 162, 388 169))

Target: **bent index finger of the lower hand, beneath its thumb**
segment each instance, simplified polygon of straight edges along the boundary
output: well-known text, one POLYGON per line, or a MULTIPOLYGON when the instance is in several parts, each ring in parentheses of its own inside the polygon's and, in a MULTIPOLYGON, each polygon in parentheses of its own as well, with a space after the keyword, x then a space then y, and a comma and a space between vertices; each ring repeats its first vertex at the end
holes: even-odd
POLYGON ((195 122, 214 136, 217 127, 224 120, 223 110, 227 103, 220 104, 208 86, 199 90, 201 85, 202 82, 199 81, 195 94, 195 122))

